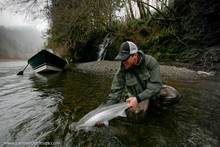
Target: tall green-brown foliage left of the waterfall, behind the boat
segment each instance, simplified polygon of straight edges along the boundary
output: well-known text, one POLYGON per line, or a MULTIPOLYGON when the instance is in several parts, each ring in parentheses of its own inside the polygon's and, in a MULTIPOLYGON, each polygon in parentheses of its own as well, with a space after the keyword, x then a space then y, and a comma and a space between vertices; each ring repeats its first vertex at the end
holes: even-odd
POLYGON ((95 60, 98 43, 120 6, 120 0, 52 1, 48 47, 68 55, 71 61, 95 60))

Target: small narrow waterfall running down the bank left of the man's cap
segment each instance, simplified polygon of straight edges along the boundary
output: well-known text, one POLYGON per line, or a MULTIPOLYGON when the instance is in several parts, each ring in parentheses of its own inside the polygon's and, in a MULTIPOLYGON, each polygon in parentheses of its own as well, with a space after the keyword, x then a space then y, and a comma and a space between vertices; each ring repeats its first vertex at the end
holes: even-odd
POLYGON ((105 55, 107 52, 107 47, 110 46, 112 44, 112 42, 114 41, 115 37, 113 36, 112 33, 108 33, 103 42, 99 45, 99 56, 97 61, 102 61, 105 59, 105 55))

